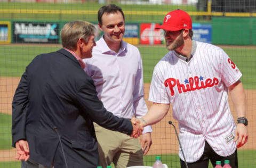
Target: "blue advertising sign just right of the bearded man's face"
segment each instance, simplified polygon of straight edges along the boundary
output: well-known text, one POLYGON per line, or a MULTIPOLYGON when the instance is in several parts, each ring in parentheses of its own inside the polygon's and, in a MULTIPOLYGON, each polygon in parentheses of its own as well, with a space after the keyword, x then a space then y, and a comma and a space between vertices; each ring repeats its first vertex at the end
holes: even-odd
POLYGON ((212 43, 212 25, 193 23, 192 30, 194 32, 193 40, 204 43, 212 43))

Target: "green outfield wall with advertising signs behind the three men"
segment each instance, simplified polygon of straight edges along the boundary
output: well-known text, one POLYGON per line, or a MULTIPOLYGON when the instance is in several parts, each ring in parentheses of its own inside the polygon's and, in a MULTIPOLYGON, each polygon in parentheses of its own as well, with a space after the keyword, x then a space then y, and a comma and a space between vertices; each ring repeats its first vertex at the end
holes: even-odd
MULTIPOLYGON (((60 30, 65 21, 0 21, 0 44, 50 43, 60 44, 60 30)), ((97 37, 102 32, 97 23, 97 37)), ((133 45, 164 44, 163 30, 155 30, 161 23, 125 24, 124 40, 133 45)), ((209 23, 193 23, 193 39, 218 45, 256 45, 256 18, 228 18, 213 16, 209 23)))

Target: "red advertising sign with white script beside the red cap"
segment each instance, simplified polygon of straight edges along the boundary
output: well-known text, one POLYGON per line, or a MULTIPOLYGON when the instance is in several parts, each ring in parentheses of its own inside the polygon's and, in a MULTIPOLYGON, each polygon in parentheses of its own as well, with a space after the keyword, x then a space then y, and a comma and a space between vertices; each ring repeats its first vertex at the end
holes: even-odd
POLYGON ((140 44, 163 44, 163 30, 155 30, 158 23, 141 23, 140 24, 140 44))

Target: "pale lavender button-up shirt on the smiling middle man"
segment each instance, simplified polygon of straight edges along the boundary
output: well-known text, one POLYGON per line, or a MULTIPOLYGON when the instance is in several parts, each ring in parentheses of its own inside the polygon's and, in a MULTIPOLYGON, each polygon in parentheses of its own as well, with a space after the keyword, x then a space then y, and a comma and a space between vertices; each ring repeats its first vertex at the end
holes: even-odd
MULTIPOLYGON (((139 49, 122 41, 119 52, 111 51, 103 36, 93 48, 92 58, 83 61, 92 77, 99 99, 118 117, 131 119, 148 112, 144 99, 142 60, 139 49)), ((152 132, 151 126, 143 133, 152 132)))

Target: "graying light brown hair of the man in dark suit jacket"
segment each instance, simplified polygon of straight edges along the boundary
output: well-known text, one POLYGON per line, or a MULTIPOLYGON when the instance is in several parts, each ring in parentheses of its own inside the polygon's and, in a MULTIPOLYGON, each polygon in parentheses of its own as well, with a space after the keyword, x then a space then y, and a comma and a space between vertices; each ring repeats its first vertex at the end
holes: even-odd
POLYGON ((79 38, 83 38, 85 43, 88 42, 90 36, 94 35, 95 27, 86 21, 72 21, 66 23, 61 29, 61 41, 64 48, 73 50, 77 47, 79 38))

